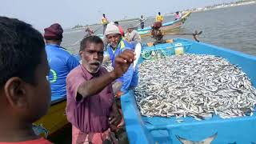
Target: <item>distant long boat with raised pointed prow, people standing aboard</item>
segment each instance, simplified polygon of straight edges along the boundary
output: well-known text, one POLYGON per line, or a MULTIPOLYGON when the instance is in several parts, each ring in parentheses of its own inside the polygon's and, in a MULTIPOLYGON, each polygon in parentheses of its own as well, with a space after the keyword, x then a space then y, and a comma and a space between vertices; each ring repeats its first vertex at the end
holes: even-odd
MULTIPOLYGON (((160 30, 162 32, 168 32, 170 30, 178 29, 179 27, 181 27, 184 24, 184 22, 186 22, 186 19, 190 17, 190 14, 191 14, 191 12, 188 11, 185 14, 183 14, 182 18, 180 18, 180 19, 177 19, 172 22, 163 23, 160 30)), ((146 35, 150 34, 151 30, 152 30, 151 26, 145 27, 144 29, 138 29, 138 34, 140 34, 141 37, 145 37, 146 35)))

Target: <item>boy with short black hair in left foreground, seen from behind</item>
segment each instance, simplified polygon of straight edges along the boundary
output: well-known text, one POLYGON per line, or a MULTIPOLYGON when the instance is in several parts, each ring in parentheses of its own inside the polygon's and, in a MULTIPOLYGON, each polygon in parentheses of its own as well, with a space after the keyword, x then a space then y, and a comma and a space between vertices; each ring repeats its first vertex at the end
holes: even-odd
POLYGON ((32 128, 50 107, 42 34, 18 19, 0 17, 0 59, 0 144, 50 144, 32 128))

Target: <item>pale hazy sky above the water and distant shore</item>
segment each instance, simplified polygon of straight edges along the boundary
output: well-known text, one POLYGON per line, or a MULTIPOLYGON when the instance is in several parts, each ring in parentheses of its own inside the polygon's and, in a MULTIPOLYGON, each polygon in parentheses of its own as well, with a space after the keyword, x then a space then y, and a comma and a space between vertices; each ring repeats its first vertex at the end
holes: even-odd
POLYGON ((235 0, 1 0, 0 16, 18 18, 38 30, 58 22, 64 28, 101 22, 102 14, 110 22, 123 18, 170 14, 235 0))

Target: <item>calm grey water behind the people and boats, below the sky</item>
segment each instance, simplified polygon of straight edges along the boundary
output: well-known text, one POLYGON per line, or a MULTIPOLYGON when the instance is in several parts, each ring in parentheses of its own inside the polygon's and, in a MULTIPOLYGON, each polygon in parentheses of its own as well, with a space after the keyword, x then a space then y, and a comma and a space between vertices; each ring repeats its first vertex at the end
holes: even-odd
MULTIPOLYGON (((165 17, 165 22, 173 19, 173 16, 165 17)), ((154 18, 149 18, 145 25, 150 26, 153 22, 154 18)), ((137 21, 133 21, 122 22, 120 25, 125 29, 130 23, 138 24, 137 21)), ((97 30, 96 34, 102 34, 102 26, 94 26, 93 29, 97 30)), ((203 31, 199 37, 201 42, 256 56, 256 4, 192 13, 179 32, 192 33, 194 30, 203 31)), ((78 42, 83 37, 83 32, 84 29, 65 30, 62 46, 78 42)), ((192 39, 192 36, 181 35, 165 38, 177 37, 192 39)), ((152 38, 142 38, 142 42, 152 41, 152 38)), ((72 53, 77 53, 78 47, 79 44, 66 48, 72 53)))

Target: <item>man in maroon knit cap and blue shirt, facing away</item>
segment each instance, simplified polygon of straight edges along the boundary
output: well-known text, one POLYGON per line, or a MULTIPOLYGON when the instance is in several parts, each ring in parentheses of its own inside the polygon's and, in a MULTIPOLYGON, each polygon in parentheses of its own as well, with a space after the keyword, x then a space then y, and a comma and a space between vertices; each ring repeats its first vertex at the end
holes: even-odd
POLYGON ((54 23, 45 29, 46 54, 50 65, 48 80, 51 87, 52 100, 66 98, 66 76, 79 62, 74 56, 62 48, 62 26, 54 23))

